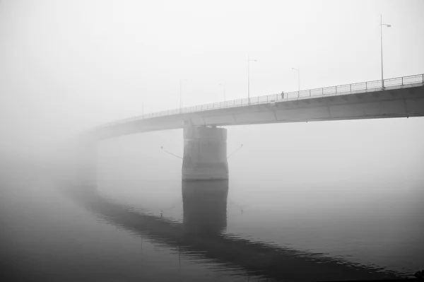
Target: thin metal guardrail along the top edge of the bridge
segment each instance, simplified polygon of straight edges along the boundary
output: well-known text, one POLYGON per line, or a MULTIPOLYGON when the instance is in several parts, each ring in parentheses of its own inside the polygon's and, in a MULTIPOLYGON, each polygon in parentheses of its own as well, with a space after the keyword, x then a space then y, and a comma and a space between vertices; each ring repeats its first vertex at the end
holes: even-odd
MULTIPOLYGON (((401 76, 397 78, 387 78, 384 79, 384 88, 391 86, 404 86, 414 83, 424 83, 424 74, 416 74, 414 76, 401 76)), ((203 105, 196 105, 191 107, 182 107, 181 109, 174 110, 165 110, 161 112, 153 112, 150 114, 143 114, 136 117, 130 117, 128 119, 120 119, 116 122, 110 122, 108 124, 103 124, 100 127, 108 127, 112 124, 121 124, 125 122, 131 122, 138 119, 150 119, 152 117, 163 117, 172 114, 186 114, 190 112, 202 112, 206 110, 218 110, 228 107, 244 107, 249 105, 260 105, 260 104, 270 104, 273 102, 282 102, 282 101, 291 101, 291 100, 301 100, 311 97, 326 97, 326 96, 336 96, 336 95, 348 95, 354 93, 365 93, 370 91, 377 91, 382 89, 382 80, 378 81, 366 81, 360 83, 351 83, 344 84, 340 86, 329 86, 324 88, 314 88, 308 90, 292 91, 284 93, 284 96, 281 96, 281 93, 264 95, 258 97, 237 99, 237 100, 228 100, 225 102, 213 102, 203 105)), ((99 128, 99 127, 98 127, 99 128)))

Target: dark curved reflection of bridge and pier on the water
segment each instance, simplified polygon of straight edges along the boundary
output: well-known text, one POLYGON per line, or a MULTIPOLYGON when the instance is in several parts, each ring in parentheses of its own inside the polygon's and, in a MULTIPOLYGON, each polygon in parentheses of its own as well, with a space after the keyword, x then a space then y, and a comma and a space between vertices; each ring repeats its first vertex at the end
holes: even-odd
POLYGON ((347 281, 403 278, 393 271, 371 269, 324 257, 322 254, 299 252, 264 242, 225 235, 228 182, 183 182, 184 223, 152 216, 134 208, 115 204, 93 190, 68 191, 78 204, 98 214, 110 224, 195 259, 208 259, 223 265, 224 270, 243 270, 245 274, 274 281, 347 281))

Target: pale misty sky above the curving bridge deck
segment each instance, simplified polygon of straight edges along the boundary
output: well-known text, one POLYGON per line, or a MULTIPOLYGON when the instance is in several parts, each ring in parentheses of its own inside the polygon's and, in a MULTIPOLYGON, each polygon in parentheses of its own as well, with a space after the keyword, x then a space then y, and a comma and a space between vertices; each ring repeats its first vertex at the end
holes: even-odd
MULTIPOLYGON (((10 148, 145 112, 424 73, 424 1, 0 1, 10 148)), ((422 125, 422 123, 420 124, 422 125)), ((326 124, 325 127, 331 127, 326 124)), ((390 130, 390 127, 387 127, 390 130)), ((418 130, 418 129, 411 129, 418 130)))

